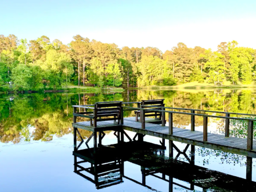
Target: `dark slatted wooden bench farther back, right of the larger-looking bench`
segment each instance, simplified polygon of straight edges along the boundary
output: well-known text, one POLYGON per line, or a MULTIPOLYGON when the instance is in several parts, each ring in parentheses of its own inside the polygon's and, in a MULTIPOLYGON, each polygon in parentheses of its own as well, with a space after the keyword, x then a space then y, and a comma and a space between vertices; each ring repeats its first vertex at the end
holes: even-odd
MULTIPOLYGON (((158 108, 158 106, 164 106, 163 104, 164 99, 154 99, 154 100, 142 100, 141 102, 141 108, 146 108, 145 105, 148 105, 148 108, 154 109, 154 110, 162 110, 162 108, 158 108), (150 106, 156 106, 156 108, 152 108, 150 106)), ((136 115, 136 121, 138 121, 138 117, 140 117, 140 111, 135 111, 134 112, 136 115)), ((156 120, 161 120, 162 118, 162 113, 161 112, 154 112, 150 111, 150 109, 145 111, 145 117, 155 117, 156 120), (157 118, 159 116, 159 118, 157 118)), ((140 118, 141 121, 141 118, 140 118)))

